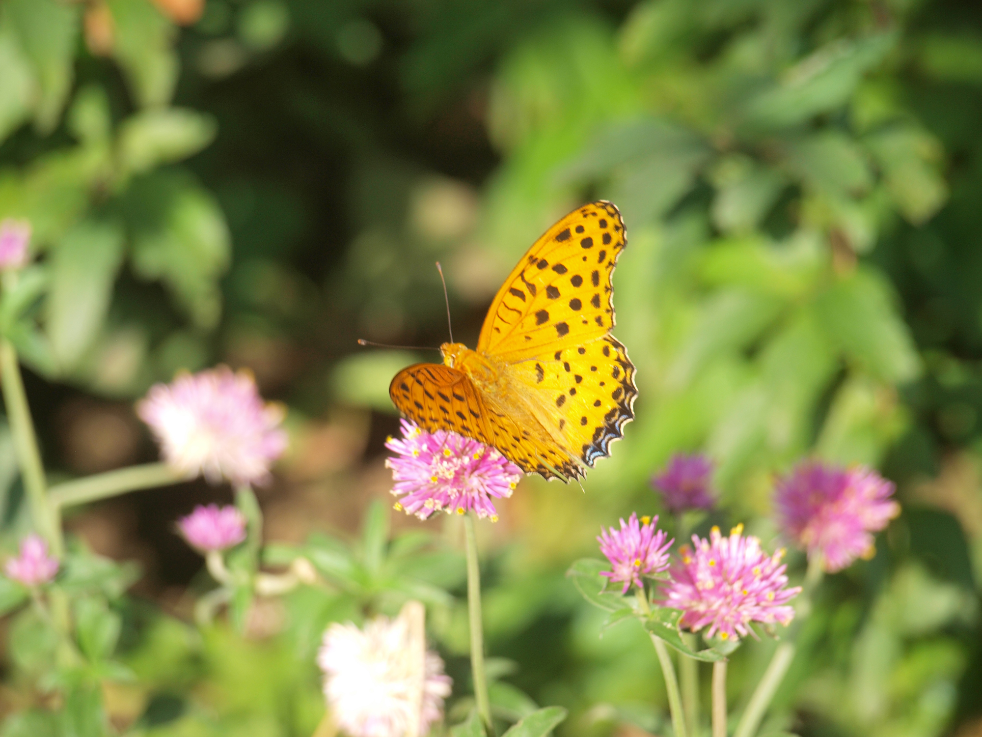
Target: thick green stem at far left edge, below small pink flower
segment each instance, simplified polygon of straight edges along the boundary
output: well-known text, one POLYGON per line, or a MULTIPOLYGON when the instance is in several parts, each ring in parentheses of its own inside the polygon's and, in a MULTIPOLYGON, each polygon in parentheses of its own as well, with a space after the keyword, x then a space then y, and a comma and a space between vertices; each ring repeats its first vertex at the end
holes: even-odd
POLYGON ((37 450, 37 435, 30 419, 27 394, 21 368, 17 363, 17 351, 6 338, 0 339, 0 383, 3 385, 3 400, 7 406, 7 420, 14 436, 14 450, 21 467, 21 477, 30 505, 30 516, 34 528, 48 541, 51 552, 61 557, 65 550, 60 527, 54 525, 54 518, 48 508, 44 480, 44 466, 37 450))

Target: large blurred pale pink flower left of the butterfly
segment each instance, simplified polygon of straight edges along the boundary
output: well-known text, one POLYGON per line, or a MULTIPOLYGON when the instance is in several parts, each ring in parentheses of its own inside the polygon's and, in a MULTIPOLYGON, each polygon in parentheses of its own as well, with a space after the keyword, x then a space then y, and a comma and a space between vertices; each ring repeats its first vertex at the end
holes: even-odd
POLYGON ((284 411, 259 396, 252 374, 228 367, 185 373, 156 384, 136 405, 164 460, 209 482, 265 483, 287 447, 284 411))

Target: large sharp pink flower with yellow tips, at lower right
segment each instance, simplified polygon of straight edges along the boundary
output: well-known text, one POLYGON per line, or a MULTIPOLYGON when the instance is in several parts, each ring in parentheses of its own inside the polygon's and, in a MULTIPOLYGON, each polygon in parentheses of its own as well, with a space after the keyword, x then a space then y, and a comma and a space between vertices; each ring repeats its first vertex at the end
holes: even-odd
POLYGON ((729 538, 714 527, 708 540, 693 535, 692 544, 694 549, 682 546, 661 601, 682 609, 682 627, 697 632, 708 625, 707 637, 719 633, 730 640, 752 634, 750 622, 791 622, 794 608, 788 601, 801 589, 786 588, 783 550, 768 556, 759 539, 743 537, 742 525, 729 538))

